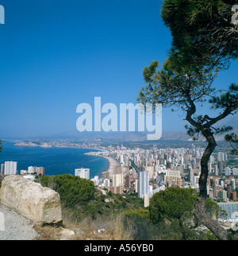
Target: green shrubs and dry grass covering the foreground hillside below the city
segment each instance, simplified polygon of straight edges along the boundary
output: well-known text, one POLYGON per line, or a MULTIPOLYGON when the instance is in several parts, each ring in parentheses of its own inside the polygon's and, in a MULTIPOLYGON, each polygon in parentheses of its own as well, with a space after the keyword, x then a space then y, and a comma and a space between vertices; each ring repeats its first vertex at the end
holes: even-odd
MULTIPOLYGON (((41 176, 37 181, 59 192, 63 223, 69 227, 88 231, 105 228, 110 239, 216 239, 211 232, 198 228, 194 219, 198 192, 192 188, 167 188, 155 193, 150 207, 144 208, 144 200, 134 194, 117 195, 106 189, 102 192, 90 180, 78 176, 41 176)), ((209 199, 206 212, 213 216, 220 213, 217 204, 209 199)))

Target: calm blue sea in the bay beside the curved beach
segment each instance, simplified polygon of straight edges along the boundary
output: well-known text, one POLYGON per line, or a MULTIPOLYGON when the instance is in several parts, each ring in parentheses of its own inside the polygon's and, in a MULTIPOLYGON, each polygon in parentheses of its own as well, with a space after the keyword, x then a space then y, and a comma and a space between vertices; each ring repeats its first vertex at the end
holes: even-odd
POLYGON ((96 149, 76 148, 42 148, 14 145, 13 142, 3 142, 0 153, 0 164, 5 161, 17 161, 18 173, 27 170, 29 166, 44 167, 45 175, 69 173, 75 175, 75 169, 81 167, 90 169, 90 179, 102 176, 109 168, 109 161, 104 157, 85 155, 97 152, 96 149))

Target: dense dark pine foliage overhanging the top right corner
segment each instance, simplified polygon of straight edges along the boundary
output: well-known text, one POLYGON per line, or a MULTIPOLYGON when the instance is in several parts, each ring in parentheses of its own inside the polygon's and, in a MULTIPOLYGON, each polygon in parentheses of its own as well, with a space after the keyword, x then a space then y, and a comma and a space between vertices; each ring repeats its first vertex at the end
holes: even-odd
POLYGON ((171 54, 209 70, 230 67, 237 54, 237 25, 232 23, 235 0, 164 0, 162 18, 171 30, 171 54))

